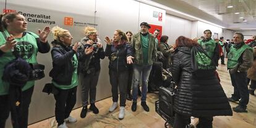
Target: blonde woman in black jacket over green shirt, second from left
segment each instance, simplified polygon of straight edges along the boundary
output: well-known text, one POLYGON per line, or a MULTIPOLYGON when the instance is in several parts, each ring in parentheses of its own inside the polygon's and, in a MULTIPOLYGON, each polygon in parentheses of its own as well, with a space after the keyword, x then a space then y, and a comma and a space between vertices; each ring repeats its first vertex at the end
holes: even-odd
POLYGON ((73 37, 68 30, 59 26, 54 26, 51 30, 54 34, 54 45, 51 50, 53 58, 53 69, 49 76, 53 78, 54 87, 58 94, 54 94, 55 116, 58 122, 58 128, 66 128, 66 122, 77 122, 77 119, 70 116, 76 102, 77 85, 78 85, 78 54, 77 43, 73 47, 73 37))

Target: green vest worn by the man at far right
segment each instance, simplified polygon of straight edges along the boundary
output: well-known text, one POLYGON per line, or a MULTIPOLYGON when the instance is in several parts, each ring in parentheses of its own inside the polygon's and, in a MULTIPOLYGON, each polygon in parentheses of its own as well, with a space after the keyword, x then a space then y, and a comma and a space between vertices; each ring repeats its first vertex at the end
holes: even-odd
POLYGON ((231 47, 228 54, 228 69, 235 68, 238 65, 238 59, 241 57, 245 49, 252 50, 252 48, 246 44, 244 44, 240 49, 236 49, 234 46, 231 47))

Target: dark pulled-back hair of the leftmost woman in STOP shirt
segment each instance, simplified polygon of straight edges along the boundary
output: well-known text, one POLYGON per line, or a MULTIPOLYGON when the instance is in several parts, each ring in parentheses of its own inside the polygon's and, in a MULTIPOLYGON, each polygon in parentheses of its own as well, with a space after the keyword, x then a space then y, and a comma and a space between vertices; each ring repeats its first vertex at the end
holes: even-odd
POLYGON ((14 20, 14 18, 16 18, 17 15, 19 15, 19 13, 17 12, 1 14, 0 15, 0 20, 1 20, 0 31, 4 31, 7 28, 6 20, 10 20, 12 22, 12 20, 14 20))

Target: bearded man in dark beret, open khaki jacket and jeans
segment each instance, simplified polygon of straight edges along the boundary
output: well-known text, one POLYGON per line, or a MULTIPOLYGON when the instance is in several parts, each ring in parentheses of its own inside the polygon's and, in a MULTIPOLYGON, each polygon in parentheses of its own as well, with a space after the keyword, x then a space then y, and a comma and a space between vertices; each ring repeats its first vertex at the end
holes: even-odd
POLYGON ((150 25, 147 22, 140 23, 140 32, 134 34, 130 41, 134 51, 134 86, 132 90, 132 111, 137 110, 137 94, 140 83, 140 74, 142 74, 142 98, 141 105, 145 111, 149 111, 146 103, 148 77, 156 58, 156 43, 153 34, 148 33, 150 25))

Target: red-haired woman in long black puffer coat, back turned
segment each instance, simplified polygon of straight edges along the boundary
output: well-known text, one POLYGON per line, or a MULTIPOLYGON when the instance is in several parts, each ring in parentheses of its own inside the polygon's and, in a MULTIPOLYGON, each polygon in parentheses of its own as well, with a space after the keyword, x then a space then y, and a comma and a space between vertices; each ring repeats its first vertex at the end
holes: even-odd
POLYGON ((215 70, 193 72, 191 48, 201 47, 192 39, 179 36, 174 45, 171 73, 177 85, 174 98, 174 128, 190 124, 190 116, 199 118, 198 128, 211 128, 213 116, 232 116, 231 106, 224 94, 215 70))

